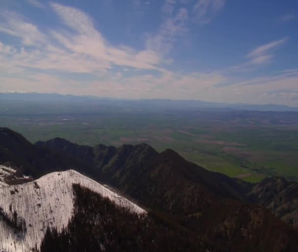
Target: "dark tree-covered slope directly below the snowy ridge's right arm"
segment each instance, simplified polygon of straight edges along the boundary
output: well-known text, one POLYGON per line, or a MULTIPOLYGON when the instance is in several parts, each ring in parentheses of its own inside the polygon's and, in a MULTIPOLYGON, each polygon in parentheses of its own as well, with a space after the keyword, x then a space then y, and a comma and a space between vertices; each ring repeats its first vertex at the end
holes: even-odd
POLYGON ((75 211, 62 232, 48 229, 41 252, 215 252, 195 234, 152 214, 136 214, 73 185, 75 211))

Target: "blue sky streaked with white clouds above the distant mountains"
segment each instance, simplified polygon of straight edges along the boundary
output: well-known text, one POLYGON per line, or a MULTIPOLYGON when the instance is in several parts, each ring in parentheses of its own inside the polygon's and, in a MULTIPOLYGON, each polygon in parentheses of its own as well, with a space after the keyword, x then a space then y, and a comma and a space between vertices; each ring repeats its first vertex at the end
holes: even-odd
POLYGON ((0 0, 0 92, 298 106, 298 1, 0 0))

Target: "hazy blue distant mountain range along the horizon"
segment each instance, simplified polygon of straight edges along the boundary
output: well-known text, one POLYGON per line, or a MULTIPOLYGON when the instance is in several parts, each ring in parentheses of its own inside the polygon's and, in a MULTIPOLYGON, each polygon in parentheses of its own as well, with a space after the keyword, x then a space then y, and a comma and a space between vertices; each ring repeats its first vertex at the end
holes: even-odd
POLYGON ((0 93, 0 104, 10 105, 11 103, 22 102, 39 102, 39 103, 74 103, 80 105, 96 105, 119 107, 125 109, 137 110, 172 110, 172 109, 232 109, 232 110, 258 110, 258 111, 298 111, 298 107, 290 107, 280 104, 244 104, 244 103, 222 103, 222 102, 207 102, 197 100, 169 100, 169 99, 115 99, 115 98, 100 98, 95 96, 74 96, 60 94, 42 94, 42 93, 0 93))

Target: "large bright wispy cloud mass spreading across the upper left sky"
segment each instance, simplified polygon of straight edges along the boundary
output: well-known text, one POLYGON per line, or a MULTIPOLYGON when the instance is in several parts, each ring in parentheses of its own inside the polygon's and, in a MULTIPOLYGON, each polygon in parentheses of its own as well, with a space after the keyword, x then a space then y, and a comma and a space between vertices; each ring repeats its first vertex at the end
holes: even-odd
MULTIPOLYGON (((99 73, 114 66, 155 69, 161 62, 152 50, 111 46, 84 12, 61 4, 50 4, 65 25, 43 33, 16 13, 1 15, 0 32, 21 39, 22 47, 1 60, 11 67, 56 70, 72 73, 99 73)), ((4 50, 5 46, 2 46, 4 50)))

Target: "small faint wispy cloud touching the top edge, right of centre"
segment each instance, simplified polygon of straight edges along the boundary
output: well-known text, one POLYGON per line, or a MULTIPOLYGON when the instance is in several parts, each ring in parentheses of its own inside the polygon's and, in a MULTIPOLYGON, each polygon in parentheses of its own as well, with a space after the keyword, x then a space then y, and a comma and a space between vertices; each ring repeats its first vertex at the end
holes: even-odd
POLYGON ((208 24, 224 7, 225 0, 198 0, 194 5, 195 19, 201 24, 208 24))

